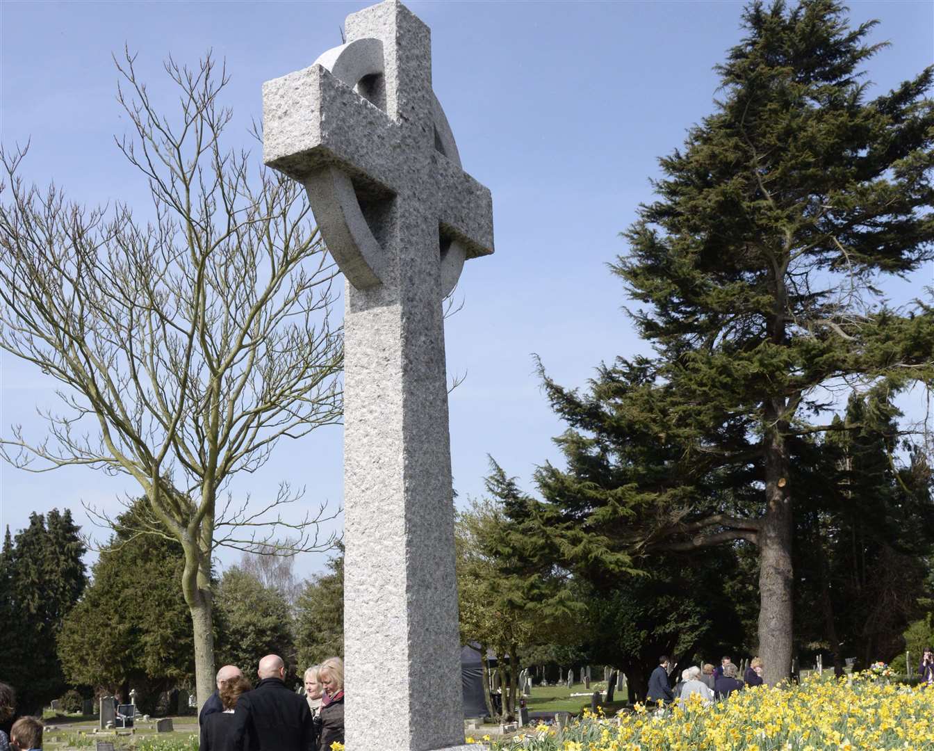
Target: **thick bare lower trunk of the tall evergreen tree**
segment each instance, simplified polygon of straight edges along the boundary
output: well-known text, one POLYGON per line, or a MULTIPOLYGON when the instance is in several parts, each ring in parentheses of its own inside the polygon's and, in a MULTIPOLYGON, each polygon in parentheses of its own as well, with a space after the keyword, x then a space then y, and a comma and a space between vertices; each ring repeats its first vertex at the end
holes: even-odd
POLYGON ((788 492, 788 452, 785 401, 771 399, 766 406, 765 494, 766 512, 758 531, 759 545, 759 658, 764 678, 775 686, 791 674, 792 561, 791 498, 788 492))

